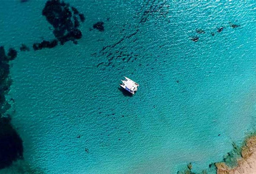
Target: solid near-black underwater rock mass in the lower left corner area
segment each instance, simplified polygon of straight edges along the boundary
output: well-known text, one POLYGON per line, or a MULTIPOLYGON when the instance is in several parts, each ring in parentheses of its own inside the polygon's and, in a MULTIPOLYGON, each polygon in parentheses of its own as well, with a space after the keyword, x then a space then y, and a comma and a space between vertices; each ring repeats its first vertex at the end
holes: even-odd
POLYGON ((0 128, 0 169, 3 169, 23 158, 23 145, 9 118, 0 118, 0 128))

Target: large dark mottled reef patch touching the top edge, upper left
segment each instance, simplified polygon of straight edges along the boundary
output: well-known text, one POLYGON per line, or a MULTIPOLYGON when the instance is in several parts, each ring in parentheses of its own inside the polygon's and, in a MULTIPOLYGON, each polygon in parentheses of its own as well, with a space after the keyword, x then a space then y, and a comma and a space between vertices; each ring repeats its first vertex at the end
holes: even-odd
POLYGON ((83 14, 79 14, 76 8, 70 8, 68 3, 60 2, 60 0, 48 0, 42 15, 54 27, 54 36, 62 45, 67 41, 76 43, 77 39, 82 38, 82 32, 78 29, 80 23, 77 16, 80 17, 81 22, 85 21, 85 17, 83 14))

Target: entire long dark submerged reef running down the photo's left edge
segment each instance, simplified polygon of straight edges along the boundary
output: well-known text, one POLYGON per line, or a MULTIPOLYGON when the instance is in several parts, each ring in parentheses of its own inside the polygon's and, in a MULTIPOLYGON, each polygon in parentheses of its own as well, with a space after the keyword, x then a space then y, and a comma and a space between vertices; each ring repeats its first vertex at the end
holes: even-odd
POLYGON ((11 107, 5 98, 12 84, 9 61, 16 56, 15 49, 10 48, 6 55, 4 47, 0 46, 0 169, 10 166, 23 156, 22 140, 10 124, 10 115, 6 114, 11 107))

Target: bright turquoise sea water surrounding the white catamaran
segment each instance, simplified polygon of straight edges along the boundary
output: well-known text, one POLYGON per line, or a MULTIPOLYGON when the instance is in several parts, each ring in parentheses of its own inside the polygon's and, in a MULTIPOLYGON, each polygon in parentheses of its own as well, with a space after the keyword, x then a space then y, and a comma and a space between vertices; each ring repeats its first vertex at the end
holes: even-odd
MULTIPOLYGON (((78 44, 31 48, 12 61, 12 123, 31 166, 174 174, 192 162, 200 172, 255 128, 254 2, 65 2, 86 17, 78 44), (104 32, 90 31, 99 21, 104 32), (123 76, 140 84, 133 97, 118 90, 123 76)), ((0 44, 19 50, 54 39, 44 5, 2 1, 0 44)))

